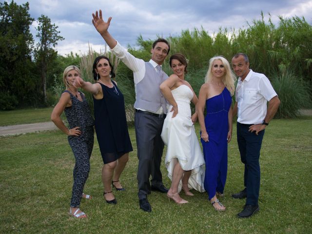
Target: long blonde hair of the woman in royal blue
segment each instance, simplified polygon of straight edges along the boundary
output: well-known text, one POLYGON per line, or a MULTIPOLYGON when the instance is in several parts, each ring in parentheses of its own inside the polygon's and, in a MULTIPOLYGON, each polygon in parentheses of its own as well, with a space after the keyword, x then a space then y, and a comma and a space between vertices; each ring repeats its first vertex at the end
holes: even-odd
POLYGON ((235 75, 231 70, 230 63, 227 59, 223 56, 215 56, 209 60, 209 68, 207 74, 205 76, 205 83, 208 83, 213 78, 212 68, 215 60, 220 60, 225 68, 225 76, 222 78, 222 82, 224 83, 225 87, 230 91, 231 95, 234 95, 235 92, 235 75))

